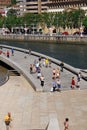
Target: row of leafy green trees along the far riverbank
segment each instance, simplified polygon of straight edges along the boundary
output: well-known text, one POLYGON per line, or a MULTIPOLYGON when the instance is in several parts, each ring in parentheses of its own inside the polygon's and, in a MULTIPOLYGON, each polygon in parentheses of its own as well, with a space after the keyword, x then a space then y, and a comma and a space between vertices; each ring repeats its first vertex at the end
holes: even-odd
POLYGON ((40 25, 42 29, 45 26, 55 28, 80 28, 84 26, 87 28, 87 16, 85 11, 82 9, 62 12, 62 13, 42 13, 42 14, 32 14, 27 13, 23 16, 17 16, 16 10, 10 9, 7 16, 0 16, 0 27, 7 27, 11 29, 12 27, 27 26, 30 27, 32 24, 40 25))

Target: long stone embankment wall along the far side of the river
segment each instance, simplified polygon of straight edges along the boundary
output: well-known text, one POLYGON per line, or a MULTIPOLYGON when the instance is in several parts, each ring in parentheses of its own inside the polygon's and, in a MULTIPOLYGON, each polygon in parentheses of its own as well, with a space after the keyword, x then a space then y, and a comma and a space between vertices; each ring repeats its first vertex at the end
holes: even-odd
POLYGON ((46 42, 81 42, 87 43, 87 36, 79 35, 20 35, 20 34, 5 34, 0 35, 0 40, 13 40, 13 41, 46 41, 46 42))

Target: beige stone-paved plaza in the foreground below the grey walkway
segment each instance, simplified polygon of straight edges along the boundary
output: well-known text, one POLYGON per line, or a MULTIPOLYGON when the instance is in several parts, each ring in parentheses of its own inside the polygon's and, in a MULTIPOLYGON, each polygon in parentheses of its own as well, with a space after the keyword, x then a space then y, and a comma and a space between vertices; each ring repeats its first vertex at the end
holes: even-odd
POLYGON ((6 130, 7 112, 13 119, 10 130, 41 130, 54 117, 60 130, 66 117, 69 130, 87 130, 87 90, 35 92, 23 76, 10 76, 0 87, 0 130, 6 130))

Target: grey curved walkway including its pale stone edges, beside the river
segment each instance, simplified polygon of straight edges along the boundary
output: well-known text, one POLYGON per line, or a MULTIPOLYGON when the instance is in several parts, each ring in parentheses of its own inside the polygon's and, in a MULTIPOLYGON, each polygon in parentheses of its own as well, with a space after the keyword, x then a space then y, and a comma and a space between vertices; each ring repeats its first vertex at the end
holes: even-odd
MULTIPOLYGON (((42 57, 46 57, 46 58, 50 58, 48 56, 45 55, 41 55, 39 53, 34 53, 32 52, 32 55, 29 55, 26 52, 28 52, 28 50, 24 50, 24 49, 19 49, 19 48, 14 48, 14 56, 11 55, 11 47, 9 46, 3 46, 3 52, 4 54, 6 53, 7 50, 10 51, 10 58, 7 58, 4 54, 0 55, 0 59, 4 62, 6 62, 7 64, 11 65, 13 68, 15 68, 17 71, 19 71, 22 75, 25 76, 25 78, 32 84, 32 86, 34 87, 34 89, 36 91, 42 91, 42 87, 40 85, 40 80, 37 79, 37 73, 35 74, 30 74, 30 64, 33 64, 35 60, 38 60, 38 56, 42 56, 42 57), (26 56, 26 58, 25 58, 26 56)), ((41 71, 45 77, 45 85, 43 87, 43 91, 47 92, 50 91, 51 87, 52 87, 52 70, 53 68, 58 68, 58 64, 60 63, 60 61, 58 61, 58 64, 56 64, 56 60, 51 58, 52 62, 52 67, 43 67, 41 68, 41 71)), ((61 72, 61 85, 62 85, 62 90, 70 90, 70 86, 71 86, 71 79, 73 76, 75 76, 75 78, 77 78, 76 74, 79 72, 78 69, 73 68, 69 65, 65 64, 65 69, 63 72, 61 72), (67 67, 68 66, 68 67, 67 67), (68 69, 70 69, 72 72, 68 71, 68 69)), ((83 76, 84 77, 84 76, 83 76)), ((80 82, 80 88, 81 89, 87 89, 87 82, 85 80, 81 80, 80 82)))

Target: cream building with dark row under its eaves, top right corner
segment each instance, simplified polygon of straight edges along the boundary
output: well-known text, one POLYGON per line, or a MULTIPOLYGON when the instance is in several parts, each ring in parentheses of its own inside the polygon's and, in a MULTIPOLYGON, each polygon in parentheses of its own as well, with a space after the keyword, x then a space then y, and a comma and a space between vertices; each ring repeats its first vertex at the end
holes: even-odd
POLYGON ((78 8, 87 10, 87 0, 49 0, 47 5, 48 12, 62 12, 78 8))

